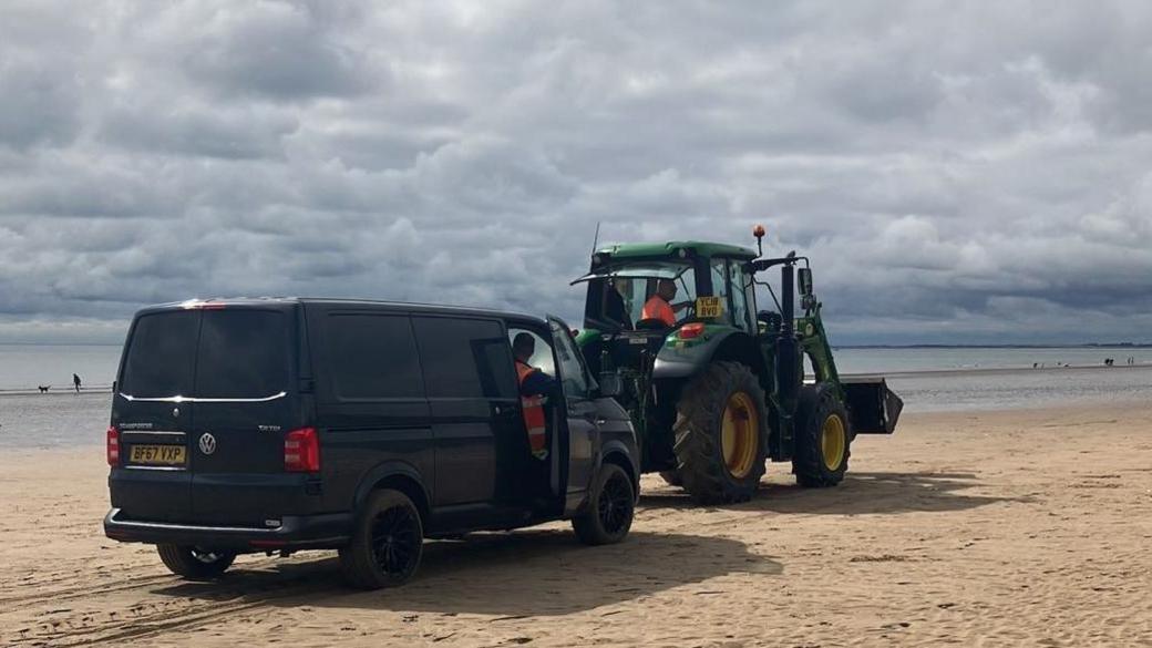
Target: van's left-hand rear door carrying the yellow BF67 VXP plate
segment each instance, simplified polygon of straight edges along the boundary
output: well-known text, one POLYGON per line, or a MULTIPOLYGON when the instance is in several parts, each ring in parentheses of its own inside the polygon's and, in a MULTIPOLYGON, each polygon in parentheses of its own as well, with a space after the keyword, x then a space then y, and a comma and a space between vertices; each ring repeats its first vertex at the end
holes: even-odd
POLYGON ((112 506, 129 519, 184 521, 191 500, 189 438, 196 340, 200 314, 144 312, 124 346, 112 425, 120 460, 112 467, 112 506))

